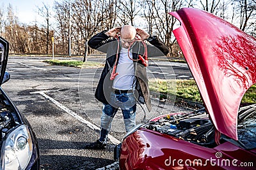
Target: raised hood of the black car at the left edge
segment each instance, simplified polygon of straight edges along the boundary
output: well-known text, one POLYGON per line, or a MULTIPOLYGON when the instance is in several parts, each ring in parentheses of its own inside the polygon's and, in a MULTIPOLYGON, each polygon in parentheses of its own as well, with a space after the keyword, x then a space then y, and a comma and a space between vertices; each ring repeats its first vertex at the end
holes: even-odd
POLYGON ((3 83, 9 52, 9 43, 0 37, 0 85, 3 83))

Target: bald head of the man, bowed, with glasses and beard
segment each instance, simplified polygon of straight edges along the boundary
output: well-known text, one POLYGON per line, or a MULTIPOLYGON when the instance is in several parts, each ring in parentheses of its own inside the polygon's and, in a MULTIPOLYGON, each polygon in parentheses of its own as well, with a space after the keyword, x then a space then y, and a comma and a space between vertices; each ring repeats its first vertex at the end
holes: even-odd
POLYGON ((136 37, 136 29, 132 25, 124 25, 120 31, 121 43, 123 48, 129 48, 129 45, 136 37))

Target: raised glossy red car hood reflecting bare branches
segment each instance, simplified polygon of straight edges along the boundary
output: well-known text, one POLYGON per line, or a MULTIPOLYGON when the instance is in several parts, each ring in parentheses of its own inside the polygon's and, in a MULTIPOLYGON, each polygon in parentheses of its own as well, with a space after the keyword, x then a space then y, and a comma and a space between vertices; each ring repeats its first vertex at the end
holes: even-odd
POLYGON ((256 82, 256 39, 195 8, 171 12, 173 31, 216 129, 237 140, 241 99, 256 82))

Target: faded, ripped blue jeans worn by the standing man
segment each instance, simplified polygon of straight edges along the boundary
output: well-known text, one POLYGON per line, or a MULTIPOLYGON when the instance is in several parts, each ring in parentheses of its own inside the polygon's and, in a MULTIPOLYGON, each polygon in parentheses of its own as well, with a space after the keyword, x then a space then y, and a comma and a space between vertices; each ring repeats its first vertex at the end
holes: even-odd
POLYGON ((132 92, 122 94, 114 94, 111 92, 110 99, 111 103, 103 104, 102 109, 100 125, 100 141, 102 142, 106 141, 108 132, 111 129, 111 122, 115 117, 118 108, 121 108, 122 110, 126 132, 129 132, 132 127, 136 125, 136 99, 134 94, 132 92))

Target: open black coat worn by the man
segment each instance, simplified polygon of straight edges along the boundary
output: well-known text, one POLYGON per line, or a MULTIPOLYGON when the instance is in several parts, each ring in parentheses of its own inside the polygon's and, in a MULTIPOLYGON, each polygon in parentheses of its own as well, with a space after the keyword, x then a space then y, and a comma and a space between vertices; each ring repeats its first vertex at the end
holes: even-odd
MULTIPOLYGON (((99 83, 97 85, 97 89, 95 91, 95 97, 102 103, 108 104, 109 102, 109 94, 113 90, 112 83, 110 80, 112 68, 116 61, 116 53, 118 49, 118 39, 117 38, 109 38, 105 34, 106 31, 99 32, 95 36, 93 36, 89 41, 88 45, 100 52, 106 53, 106 64, 101 73, 99 83)), ((166 55, 169 50, 168 47, 164 45, 162 41, 160 41, 156 36, 151 37, 148 42, 151 45, 147 45, 147 53, 148 57, 157 57, 166 55)), ((122 45, 119 45, 118 51, 118 59, 120 55, 120 50, 122 45)), ((135 87, 135 96, 141 103, 146 103, 148 111, 151 111, 152 106, 150 102, 149 89, 148 89, 148 80, 147 80, 147 72, 146 67, 143 66, 141 60, 138 59, 138 54, 143 54, 145 48, 141 41, 136 41, 132 45, 132 59, 134 59, 134 68, 135 68, 135 76, 136 76, 136 87, 135 87)), ((118 66, 117 66, 118 67, 118 66)))

